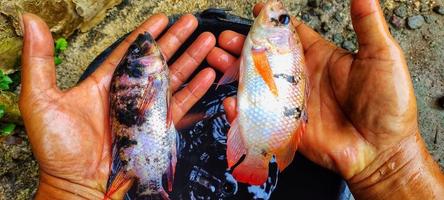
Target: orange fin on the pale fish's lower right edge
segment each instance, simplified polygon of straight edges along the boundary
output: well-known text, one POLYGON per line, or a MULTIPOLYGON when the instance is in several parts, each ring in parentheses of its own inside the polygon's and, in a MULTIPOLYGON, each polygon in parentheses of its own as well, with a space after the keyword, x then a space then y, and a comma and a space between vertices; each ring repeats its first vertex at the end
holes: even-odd
POLYGON ((283 147, 282 149, 276 151, 276 162, 278 164, 279 171, 283 171, 288 165, 293 161, 294 155, 296 154, 296 150, 298 149, 299 141, 301 139, 302 134, 305 132, 305 122, 301 120, 301 124, 299 125, 296 132, 292 135, 290 142, 288 145, 283 147))

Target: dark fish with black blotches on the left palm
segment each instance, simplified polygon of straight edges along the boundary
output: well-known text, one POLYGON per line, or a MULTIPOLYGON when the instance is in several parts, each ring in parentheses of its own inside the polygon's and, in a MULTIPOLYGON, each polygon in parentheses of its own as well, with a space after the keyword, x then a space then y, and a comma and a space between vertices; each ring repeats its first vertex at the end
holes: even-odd
POLYGON ((117 175, 105 198, 133 182, 137 199, 169 199, 176 165, 176 130, 169 99, 166 61, 152 36, 140 34, 111 82, 113 171, 117 175))

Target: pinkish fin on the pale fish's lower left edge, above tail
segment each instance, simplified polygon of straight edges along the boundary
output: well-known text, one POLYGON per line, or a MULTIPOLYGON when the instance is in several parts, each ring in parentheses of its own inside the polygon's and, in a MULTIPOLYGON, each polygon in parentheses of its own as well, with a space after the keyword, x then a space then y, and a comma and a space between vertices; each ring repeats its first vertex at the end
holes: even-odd
POLYGON ((242 141, 237 118, 231 123, 227 138, 227 161, 228 167, 231 168, 247 153, 247 149, 242 141))

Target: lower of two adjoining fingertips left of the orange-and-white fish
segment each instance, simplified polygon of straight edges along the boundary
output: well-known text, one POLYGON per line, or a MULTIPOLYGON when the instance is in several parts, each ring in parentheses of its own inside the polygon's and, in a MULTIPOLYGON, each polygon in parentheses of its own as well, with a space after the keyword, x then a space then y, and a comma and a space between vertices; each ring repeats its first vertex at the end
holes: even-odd
POLYGON ((225 72, 236 60, 236 57, 218 47, 213 48, 207 56, 208 64, 220 72, 225 72))

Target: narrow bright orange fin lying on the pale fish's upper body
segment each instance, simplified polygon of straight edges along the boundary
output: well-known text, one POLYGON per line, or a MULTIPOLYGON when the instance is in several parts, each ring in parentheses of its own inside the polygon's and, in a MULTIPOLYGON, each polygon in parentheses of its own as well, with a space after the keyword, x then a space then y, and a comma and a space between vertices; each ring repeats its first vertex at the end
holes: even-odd
POLYGON ((278 96, 278 89, 273 79, 273 72, 271 71, 270 63, 268 62, 267 53, 265 50, 252 50, 253 62, 257 72, 267 84, 271 93, 278 96))

